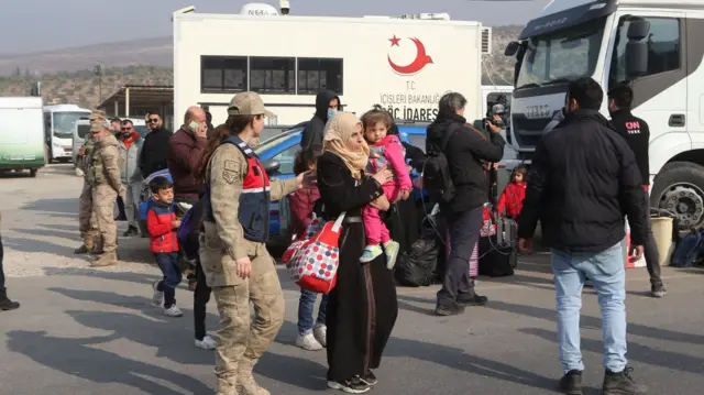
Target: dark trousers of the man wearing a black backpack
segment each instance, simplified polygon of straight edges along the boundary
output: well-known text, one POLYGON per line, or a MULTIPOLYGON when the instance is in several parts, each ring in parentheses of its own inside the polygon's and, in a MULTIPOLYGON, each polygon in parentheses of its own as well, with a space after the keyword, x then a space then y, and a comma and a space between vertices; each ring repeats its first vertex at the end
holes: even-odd
POLYGON ((438 304, 452 304, 459 294, 474 293, 474 282, 470 279, 470 257, 480 239, 482 207, 451 212, 446 220, 450 228, 450 256, 444 267, 442 288, 438 292, 438 304))

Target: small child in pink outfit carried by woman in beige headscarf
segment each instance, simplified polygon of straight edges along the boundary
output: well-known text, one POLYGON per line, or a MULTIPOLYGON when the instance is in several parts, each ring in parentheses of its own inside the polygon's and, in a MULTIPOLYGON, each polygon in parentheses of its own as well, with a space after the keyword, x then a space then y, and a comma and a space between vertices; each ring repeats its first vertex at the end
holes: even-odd
MULTIPOLYGON (((384 195, 389 202, 399 198, 408 198, 413 184, 406 166, 406 153, 397 135, 387 134, 394 120, 388 112, 374 109, 362 117, 364 125, 364 139, 370 144, 370 163, 366 167, 370 174, 376 173, 382 166, 388 165, 394 173, 394 179, 384 184, 384 195)), ((391 239, 386 224, 380 217, 378 210, 372 206, 362 209, 362 219, 366 232, 366 248, 360 257, 360 262, 372 262, 382 254, 382 248, 386 252, 386 265, 389 270, 396 264, 399 245, 391 239)))

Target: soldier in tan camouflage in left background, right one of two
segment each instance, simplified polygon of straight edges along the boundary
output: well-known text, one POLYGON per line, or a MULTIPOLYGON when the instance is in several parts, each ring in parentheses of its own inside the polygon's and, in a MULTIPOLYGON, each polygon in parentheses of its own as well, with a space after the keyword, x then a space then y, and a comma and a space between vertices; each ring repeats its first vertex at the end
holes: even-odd
POLYGON ((92 186, 92 210, 102 238, 103 254, 91 266, 102 267, 118 263, 118 226, 114 222, 114 200, 122 188, 120 182, 120 149, 110 133, 107 121, 96 122, 90 131, 96 140, 88 177, 92 186))

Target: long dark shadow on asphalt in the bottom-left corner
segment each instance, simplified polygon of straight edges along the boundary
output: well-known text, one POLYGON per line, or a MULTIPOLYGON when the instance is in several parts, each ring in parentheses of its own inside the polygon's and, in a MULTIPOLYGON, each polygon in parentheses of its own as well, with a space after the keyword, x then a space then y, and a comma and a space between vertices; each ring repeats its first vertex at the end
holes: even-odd
POLYGON ((15 330, 8 332, 7 336, 9 350, 67 375, 95 383, 129 385, 147 394, 183 394, 158 384, 157 381, 175 384, 190 394, 213 392, 188 374, 123 358, 92 347, 117 340, 121 337, 119 333, 68 339, 46 336, 45 331, 15 330))

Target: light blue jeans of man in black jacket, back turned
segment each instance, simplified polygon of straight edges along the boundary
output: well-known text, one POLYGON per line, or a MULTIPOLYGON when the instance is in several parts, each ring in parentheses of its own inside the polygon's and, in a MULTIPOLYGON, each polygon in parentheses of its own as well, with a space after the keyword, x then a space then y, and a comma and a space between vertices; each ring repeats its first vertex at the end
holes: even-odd
POLYGON ((624 248, 618 244, 596 253, 551 250, 558 305, 558 340, 564 372, 583 371, 580 349, 580 309, 584 276, 598 295, 604 337, 604 367, 626 367, 626 268, 624 248))

